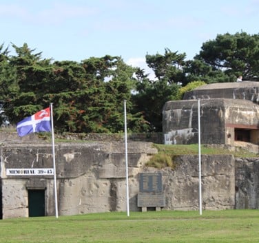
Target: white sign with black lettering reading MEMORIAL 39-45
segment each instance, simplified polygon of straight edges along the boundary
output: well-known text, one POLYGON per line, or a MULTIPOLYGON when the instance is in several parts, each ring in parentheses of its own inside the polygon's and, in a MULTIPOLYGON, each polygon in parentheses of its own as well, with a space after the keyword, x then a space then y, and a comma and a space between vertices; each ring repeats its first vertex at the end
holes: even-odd
POLYGON ((54 175, 52 168, 6 169, 6 176, 49 176, 54 175))

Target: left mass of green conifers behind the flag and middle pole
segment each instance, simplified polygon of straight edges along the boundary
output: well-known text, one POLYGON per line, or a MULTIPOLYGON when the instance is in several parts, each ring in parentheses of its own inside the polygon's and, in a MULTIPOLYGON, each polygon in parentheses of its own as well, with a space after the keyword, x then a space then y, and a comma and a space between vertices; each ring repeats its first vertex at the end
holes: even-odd
MULTIPOLYGON (((127 100, 128 128, 145 131, 146 121, 132 110, 135 69, 118 56, 75 61, 41 59, 27 44, 12 45, 16 56, 2 52, 1 92, 12 123, 53 103, 55 131, 118 132, 124 129, 123 101, 127 100), (8 77, 8 69, 13 76, 8 77), (14 85, 12 85, 14 84, 14 85), (144 129, 144 130, 143 130, 144 129)), ((1 53, 1 52, 0 52, 1 53)))

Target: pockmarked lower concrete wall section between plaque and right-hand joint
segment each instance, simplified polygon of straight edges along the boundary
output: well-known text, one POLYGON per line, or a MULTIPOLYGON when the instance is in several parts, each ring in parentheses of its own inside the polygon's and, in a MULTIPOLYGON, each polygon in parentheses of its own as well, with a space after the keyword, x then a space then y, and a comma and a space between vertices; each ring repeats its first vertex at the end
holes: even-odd
MULTIPOLYGON (((174 171, 165 170, 167 208, 199 209, 198 156, 179 156, 174 171)), ((203 209, 234 209, 235 164, 232 156, 202 156, 203 209)))

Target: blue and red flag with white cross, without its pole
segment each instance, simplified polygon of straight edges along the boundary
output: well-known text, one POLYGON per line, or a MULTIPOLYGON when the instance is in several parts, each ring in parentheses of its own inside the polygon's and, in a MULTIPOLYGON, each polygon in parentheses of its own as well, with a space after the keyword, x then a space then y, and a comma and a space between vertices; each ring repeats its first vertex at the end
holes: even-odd
POLYGON ((20 137, 40 131, 51 131, 50 107, 42 109, 17 123, 17 133, 20 137))

